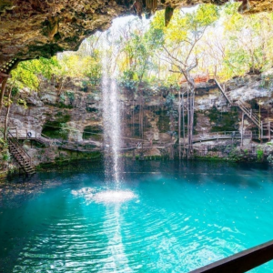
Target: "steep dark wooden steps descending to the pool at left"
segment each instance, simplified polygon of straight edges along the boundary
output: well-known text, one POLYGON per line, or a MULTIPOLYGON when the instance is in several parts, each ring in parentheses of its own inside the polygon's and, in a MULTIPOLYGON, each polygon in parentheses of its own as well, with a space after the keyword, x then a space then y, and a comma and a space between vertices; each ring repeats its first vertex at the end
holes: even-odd
POLYGON ((34 175, 35 167, 32 165, 31 157, 10 132, 8 132, 7 143, 10 154, 15 158, 16 163, 24 170, 25 174, 34 175))

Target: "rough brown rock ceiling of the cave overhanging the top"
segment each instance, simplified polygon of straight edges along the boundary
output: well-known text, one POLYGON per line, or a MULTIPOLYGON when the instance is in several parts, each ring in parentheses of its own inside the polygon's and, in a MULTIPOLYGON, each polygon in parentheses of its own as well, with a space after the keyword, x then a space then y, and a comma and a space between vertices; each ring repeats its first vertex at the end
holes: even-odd
MULTIPOLYGON (((86 36, 106 30, 117 16, 136 14, 139 1, 153 0, 0 0, 0 68, 13 59, 76 50, 86 36)), ((227 2, 158 0, 157 9, 227 2)), ((246 13, 272 11, 273 0, 240 2, 246 13)))

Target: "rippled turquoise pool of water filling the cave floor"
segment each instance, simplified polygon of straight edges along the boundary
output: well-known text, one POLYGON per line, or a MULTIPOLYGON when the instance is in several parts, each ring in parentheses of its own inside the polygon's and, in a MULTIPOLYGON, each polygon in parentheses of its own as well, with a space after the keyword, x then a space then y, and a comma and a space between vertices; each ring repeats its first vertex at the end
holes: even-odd
POLYGON ((117 192, 92 164, 2 183, 0 272, 188 272, 273 238, 269 167, 124 170, 117 192))

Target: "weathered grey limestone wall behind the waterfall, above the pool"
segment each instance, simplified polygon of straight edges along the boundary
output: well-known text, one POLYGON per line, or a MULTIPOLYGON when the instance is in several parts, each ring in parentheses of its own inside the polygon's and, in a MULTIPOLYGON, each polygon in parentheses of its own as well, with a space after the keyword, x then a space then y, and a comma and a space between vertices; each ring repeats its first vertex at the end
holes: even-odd
MULTIPOLYGON (((183 86, 182 86, 183 87, 183 86)), ((170 148, 162 147, 162 143, 176 143, 178 131, 178 91, 165 87, 140 86, 141 92, 120 86, 120 103, 122 105, 123 146, 135 144, 141 138, 140 105, 143 105, 143 136, 153 148, 136 150, 136 157, 169 157, 170 148), (139 96, 138 94, 144 94, 139 96), (129 139, 129 140, 127 140, 129 139), (161 147, 160 147, 161 146, 161 147)), ((262 118, 270 118, 272 113, 272 94, 264 86, 261 76, 246 76, 226 83, 228 96, 237 101, 244 100, 253 106, 254 112, 259 112, 258 102, 262 102, 262 118), (255 107, 257 109, 255 109, 255 107)), ((24 106, 13 105, 9 126, 18 128, 20 134, 45 134, 50 138, 69 140, 78 144, 102 146, 103 118, 102 97, 100 86, 88 84, 87 79, 71 79, 60 86, 52 81, 43 81, 38 93, 30 94, 22 90, 20 96, 27 102, 24 106)), ((186 100, 185 100, 186 103, 186 100)), ((197 86, 196 91, 195 135, 200 136, 210 132, 241 130, 241 112, 238 107, 229 106, 227 99, 214 86, 197 86)), ((5 110, 4 110, 5 112, 5 110)), ((186 114, 187 115, 187 114, 186 114)), ((4 116, 1 116, 3 122, 4 116)), ((186 116, 187 121, 187 116, 186 116)), ((244 130, 257 130, 250 120, 245 119, 244 130)), ((187 128, 186 128, 187 133, 187 128)), ((183 128, 181 129, 183 136, 183 128)), ((214 145, 216 142, 200 143, 196 147, 214 145)), ((217 146, 239 146, 239 141, 220 140, 217 146)), ((249 146, 248 140, 245 145, 249 146)), ((257 146, 258 144, 253 144, 257 146)), ((271 146, 265 146, 271 147, 271 146)), ((217 156, 227 157, 231 149, 217 151, 217 156)), ((70 159, 97 158, 100 153, 78 153, 59 149, 57 147, 43 147, 34 141, 25 141, 25 149, 34 158, 36 165, 46 162, 60 162, 70 159)), ((246 148, 245 148, 246 149, 246 148)), ((177 149, 174 151, 177 155, 177 149)), ((209 151, 203 156, 214 157, 209 151)), ((270 149, 267 153, 270 153, 270 149)), ((233 154, 236 154, 233 152, 233 154)), ((132 157, 132 153, 126 156, 132 157)), ((234 158, 234 157, 232 157, 234 158)), ((241 159, 244 157, 240 157, 241 159)))

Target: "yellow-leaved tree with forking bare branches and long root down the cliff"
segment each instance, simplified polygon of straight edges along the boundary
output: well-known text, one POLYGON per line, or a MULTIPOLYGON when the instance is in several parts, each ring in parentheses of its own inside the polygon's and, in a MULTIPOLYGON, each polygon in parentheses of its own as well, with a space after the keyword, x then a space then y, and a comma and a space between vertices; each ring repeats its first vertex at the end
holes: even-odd
MULTIPOLYGON (((193 153, 195 82, 191 71, 198 66, 202 53, 197 45, 208 26, 218 19, 215 5, 199 5, 192 13, 175 11, 168 27, 164 26, 163 14, 158 13, 151 25, 154 41, 161 44, 163 54, 159 56, 170 65, 171 72, 184 76, 187 81, 187 145, 188 157, 193 153)), ((161 53, 161 52, 160 52, 161 53)), ((179 98, 180 99, 180 98, 179 98)))

